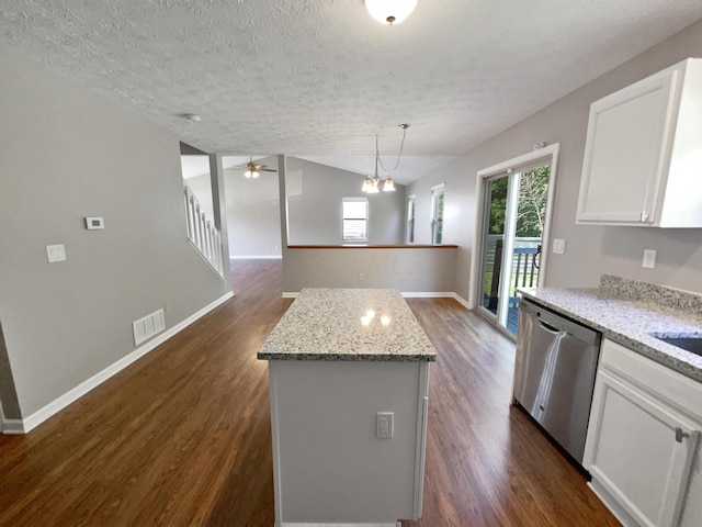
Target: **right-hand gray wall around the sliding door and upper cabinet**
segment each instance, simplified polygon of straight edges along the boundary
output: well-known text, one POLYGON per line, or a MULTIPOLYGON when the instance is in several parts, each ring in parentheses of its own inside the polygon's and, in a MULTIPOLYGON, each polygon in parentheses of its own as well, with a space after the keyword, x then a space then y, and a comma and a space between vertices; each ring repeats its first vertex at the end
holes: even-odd
POLYGON ((444 243, 461 246, 454 291, 468 298, 476 172, 547 142, 561 143, 552 238, 565 238, 566 251, 551 255, 546 285, 596 287, 607 272, 702 292, 701 229, 575 224, 590 103, 688 57, 702 57, 702 21, 409 186, 407 193, 417 194, 416 242, 428 244, 430 188, 446 183, 444 243), (658 250, 656 269, 641 267, 646 248, 658 250))

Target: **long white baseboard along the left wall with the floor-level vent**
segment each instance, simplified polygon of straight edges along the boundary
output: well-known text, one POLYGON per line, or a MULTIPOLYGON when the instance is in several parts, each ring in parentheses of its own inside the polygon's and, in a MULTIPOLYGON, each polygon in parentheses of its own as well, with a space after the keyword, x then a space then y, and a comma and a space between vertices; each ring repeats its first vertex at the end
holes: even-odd
MULTIPOLYGON (((120 371, 125 369, 127 366, 129 366, 135 360, 140 359, 146 354, 148 354, 154 348, 156 348, 158 345, 163 344, 166 340, 171 338, 173 335, 176 335, 177 333, 180 333, 185 327, 190 326, 193 322, 195 322, 197 318, 200 318, 201 316, 207 314, 208 312, 211 312, 212 310, 217 307, 223 302, 226 302, 227 300, 229 300, 231 296, 234 296, 233 292, 228 292, 224 296, 220 296, 219 299, 217 299, 214 302, 212 302, 211 304, 204 306, 202 310, 197 311, 196 313, 194 313, 193 315, 189 316, 184 321, 176 324, 170 329, 167 329, 166 332, 159 334, 157 337, 155 337, 154 339, 149 340, 144 346, 140 346, 139 348, 135 349, 129 355, 121 358, 120 360, 117 360, 113 365, 109 366, 104 370, 102 370, 102 371, 95 373, 94 375, 92 375, 90 379, 81 382, 76 388, 73 388, 73 389, 69 390, 68 392, 66 392, 64 395, 55 399, 54 401, 48 403, 43 408, 37 410, 36 412, 34 412, 29 417, 26 417, 26 418, 24 418, 22 421, 18 419, 18 422, 21 425, 19 428, 16 428, 16 427, 9 428, 8 427, 7 429, 3 429, 2 433, 3 434, 26 434, 30 430, 32 430, 33 428, 36 428, 38 425, 41 425, 46 419, 48 419, 53 415, 57 414, 61 410, 64 410, 66 406, 68 406, 72 402, 75 402, 78 399, 82 397, 84 394, 90 392, 93 388, 97 388, 98 385, 102 384, 104 381, 110 379, 115 373, 118 373, 120 371), (11 429, 16 430, 16 431, 10 431, 11 429)), ((8 425, 8 421, 5 421, 5 426, 7 425, 8 425)))

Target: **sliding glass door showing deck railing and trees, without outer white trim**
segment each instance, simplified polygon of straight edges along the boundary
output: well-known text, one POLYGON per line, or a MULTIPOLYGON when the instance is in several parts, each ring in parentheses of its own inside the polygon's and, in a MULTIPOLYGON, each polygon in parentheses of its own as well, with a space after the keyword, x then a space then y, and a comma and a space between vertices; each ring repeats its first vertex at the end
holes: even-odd
POLYGON ((519 287, 535 287, 551 166, 508 169, 485 179, 478 309, 517 334, 519 287))

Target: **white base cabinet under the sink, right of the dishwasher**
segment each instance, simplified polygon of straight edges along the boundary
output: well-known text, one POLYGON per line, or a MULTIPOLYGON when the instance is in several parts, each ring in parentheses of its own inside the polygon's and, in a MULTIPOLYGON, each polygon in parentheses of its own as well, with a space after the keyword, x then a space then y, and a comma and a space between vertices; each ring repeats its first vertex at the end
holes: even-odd
POLYGON ((603 340, 584 467, 626 526, 702 525, 702 384, 603 340))

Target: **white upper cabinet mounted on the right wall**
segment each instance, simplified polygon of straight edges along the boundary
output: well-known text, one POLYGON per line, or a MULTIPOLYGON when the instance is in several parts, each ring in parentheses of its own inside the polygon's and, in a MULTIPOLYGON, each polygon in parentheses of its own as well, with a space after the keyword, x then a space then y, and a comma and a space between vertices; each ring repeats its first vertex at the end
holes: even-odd
POLYGON ((591 104, 576 223, 702 227, 702 59, 591 104))

